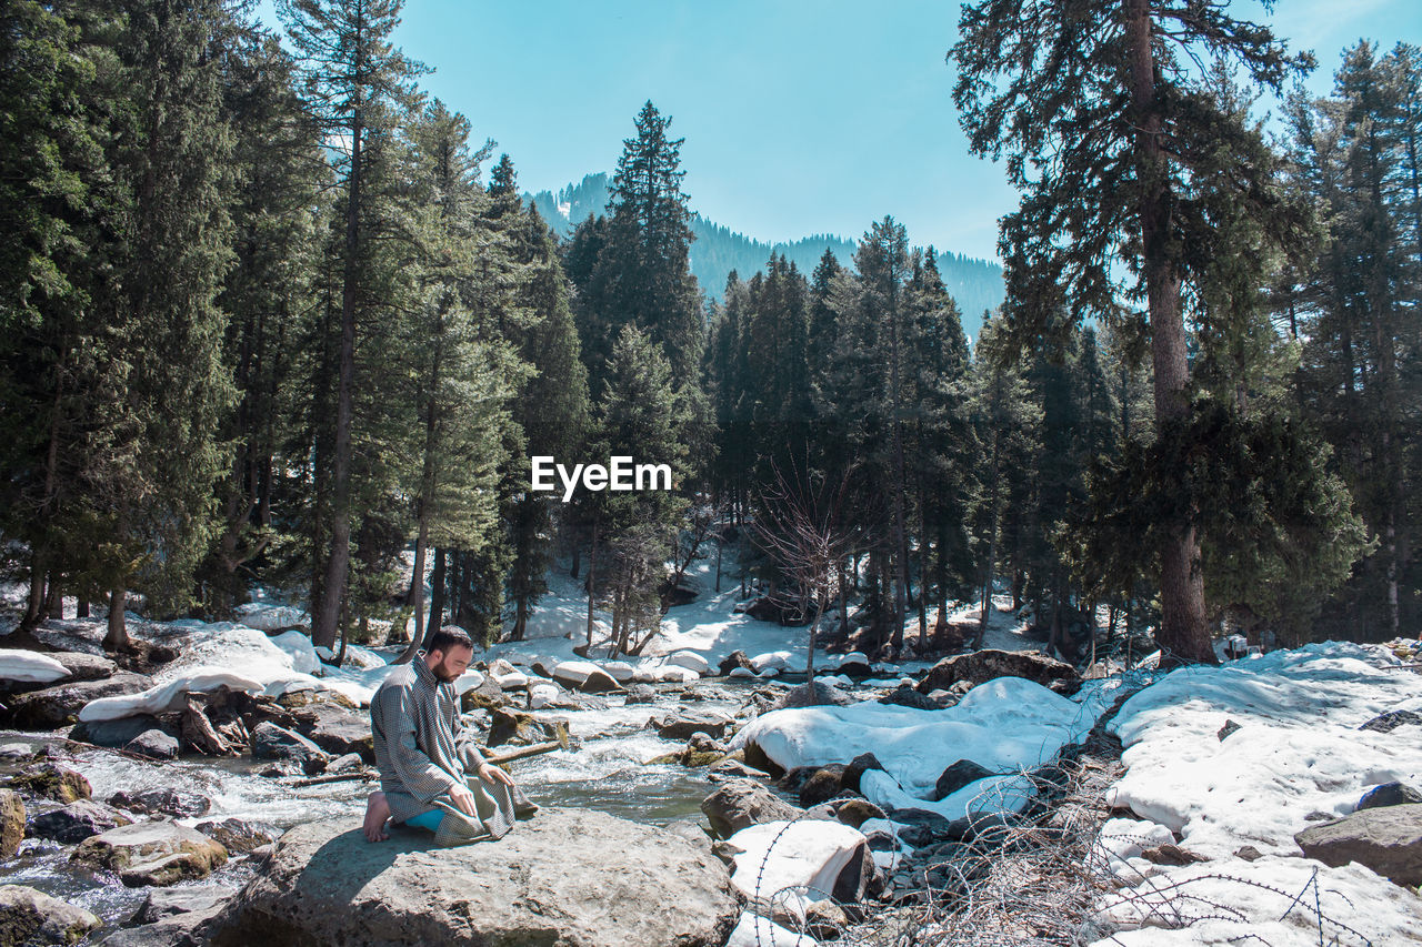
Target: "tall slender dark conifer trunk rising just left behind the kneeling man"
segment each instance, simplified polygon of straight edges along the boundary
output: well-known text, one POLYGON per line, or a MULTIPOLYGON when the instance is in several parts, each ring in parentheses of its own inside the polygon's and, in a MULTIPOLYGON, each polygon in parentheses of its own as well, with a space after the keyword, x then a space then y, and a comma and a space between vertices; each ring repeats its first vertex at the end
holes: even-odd
MULTIPOLYGON (((336 626, 346 596, 351 537, 351 415, 356 390, 356 284, 360 249, 361 144, 364 127, 357 108, 351 115, 350 199, 346 208, 346 273, 341 286, 340 381, 336 387, 336 449, 331 469, 331 553, 326 562, 321 600, 313 616, 311 643, 336 646, 336 626)), ((418 636, 417 636, 418 637, 418 636)))

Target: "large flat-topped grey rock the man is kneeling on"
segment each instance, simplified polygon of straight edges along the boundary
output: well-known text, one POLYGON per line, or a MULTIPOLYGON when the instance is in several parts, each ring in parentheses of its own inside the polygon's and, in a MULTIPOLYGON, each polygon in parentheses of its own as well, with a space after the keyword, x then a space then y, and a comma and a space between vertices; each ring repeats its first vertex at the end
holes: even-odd
POLYGON ((741 909, 704 847, 600 812, 543 809, 498 842, 434 847, 350 819, 282 836, 213 944, 721 947, 741 909))

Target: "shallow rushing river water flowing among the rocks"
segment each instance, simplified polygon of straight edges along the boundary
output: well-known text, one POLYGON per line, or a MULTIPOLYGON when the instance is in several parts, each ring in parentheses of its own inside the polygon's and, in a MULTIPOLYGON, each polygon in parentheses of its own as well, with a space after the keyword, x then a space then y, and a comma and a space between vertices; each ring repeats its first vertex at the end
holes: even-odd
MULTIPOLYGON (((623 704, 621 697, 606 698, 606 710, 542 710, 535 717, 566 719, 576 741, 572 751, 556 751, 509 765, 515 779, 540 805, 599 809, 634 822, 665 825, 668 822, 702 819, 700 805, 710 795, 711 783, 705 769, 680 765, 647 765, 648 759, 678 751, 680 741, 657 737, 647 725, 650 718, 678 712, 710 710, 735 714, 749 694, 741 683, 707 687, 693 685, 690 692, 702 697, 683 701, 688 691, 667 688, 653 704, 623 704)), ((55 744, 73 751, 65 765, 82 772, 94 788, 94 798, 105 801, 115 792, 171 788, 198 792, 212 799, 212 810, 198 819, 178 819, 195 825, 208 819, 235 816, 262 822, 277 829, 289 829, 316 819, 350 819, 360 825, 365 796, 374 788, 368 782, 336 782, 321 786, 292 788, 279 779, 257 775, 266 761, 198 759, 149 762, 117 752, 84 749, 65 744, 63 731, 55 734, 21 734, 0 731, 0 745, 23 742, 38 748, 55 744)), ((14 766, 0 768, 0 772, 14 766)), ((127 889, 117 876, 92 874, 71 867, 74 846, 61 846, 40 839, 26 839, 16 859, 0 863, 0 883, 27 884, 92 911, 105 921, 105 929, 91 936, 102 938, 114 927, 122 926, 142 904, 146 889, 127 889)), ((193 886, 240 886, 252 877, 247 859, 236 857, 209 879, 193 886)))

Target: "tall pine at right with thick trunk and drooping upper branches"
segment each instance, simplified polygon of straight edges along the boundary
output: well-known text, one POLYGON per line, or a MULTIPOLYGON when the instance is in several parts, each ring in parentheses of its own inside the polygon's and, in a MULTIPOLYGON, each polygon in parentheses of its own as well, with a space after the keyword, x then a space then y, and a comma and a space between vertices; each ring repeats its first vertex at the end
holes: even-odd
MULTIPOLYGON (((1219 107, 1194 63, 1230 60, 1278 91, 1308 58, 1290 57, 1267 28, 1223 7, 1177 0, 1129 0, 1123 10, 985 0, 964 7, 951 55, 973 151, 1007 151, 1010 178, 1024 192, 1001 233, 1015 334, 1035 338, 1064 304, 1074 317, 1118 311, 1126 287, 1113 267, 1129 260, 1148 303, 1160 437, 1187 425, 1182 289, 1217 246, 1203 208, 1183 199, 1192 175, 1227 165, 1230 199, 1278 240, 1294 239, 1298 220, 1268 169, 1250 164, 1258 134, 1219 107)), ((1059 331, 1069 327, 1066 320, 1059 331)), ((1162 542, 1160 646, 1167 660, 1213 663, 1189 509, 1162 542)))

